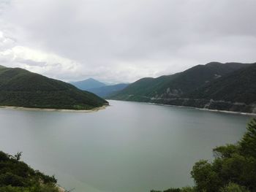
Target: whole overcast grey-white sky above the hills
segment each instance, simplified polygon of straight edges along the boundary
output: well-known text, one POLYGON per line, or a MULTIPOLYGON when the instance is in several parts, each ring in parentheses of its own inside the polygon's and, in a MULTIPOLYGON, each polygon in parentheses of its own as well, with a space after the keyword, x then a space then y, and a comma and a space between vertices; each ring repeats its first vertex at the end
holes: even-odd
POLYGON ((133 82, 256 61, 255 0, 0 0, 0 64, 133 82))

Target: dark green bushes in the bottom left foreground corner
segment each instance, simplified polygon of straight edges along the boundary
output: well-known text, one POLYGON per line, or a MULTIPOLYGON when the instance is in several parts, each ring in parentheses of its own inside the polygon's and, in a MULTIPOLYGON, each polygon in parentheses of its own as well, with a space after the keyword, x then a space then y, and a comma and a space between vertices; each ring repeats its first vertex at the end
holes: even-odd
POLYGON ((56 178, 32 169, 20 161, 21 153, 8 155, 0 151, 0 191, 59 192, 56 178))

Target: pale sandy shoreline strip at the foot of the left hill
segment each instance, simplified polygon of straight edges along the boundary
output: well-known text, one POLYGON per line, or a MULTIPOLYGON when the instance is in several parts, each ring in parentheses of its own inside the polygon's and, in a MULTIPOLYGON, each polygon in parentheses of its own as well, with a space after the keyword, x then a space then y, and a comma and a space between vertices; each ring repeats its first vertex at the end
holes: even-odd
POLYGON ((95 107, 91 110, 65 110, 65 109, 48 109, 48 108, 33 108, 33 107, 0 106, 0 109, 45 111, 45 112, 97 112, 99 110, 105 110, 106 107, 108 107, 108 105, 103 105, 102 107, 95 107))

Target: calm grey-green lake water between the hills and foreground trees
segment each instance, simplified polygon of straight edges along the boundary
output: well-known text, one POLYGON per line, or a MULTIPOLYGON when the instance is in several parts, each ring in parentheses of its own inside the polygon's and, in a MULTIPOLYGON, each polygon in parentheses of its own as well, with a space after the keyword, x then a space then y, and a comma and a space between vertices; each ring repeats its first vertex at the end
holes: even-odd
POLYGON ((76 192, 192 185, 195 161, 238 141, 249 116, 110 101, 99 112, 0 110, 0 150, 76 192))

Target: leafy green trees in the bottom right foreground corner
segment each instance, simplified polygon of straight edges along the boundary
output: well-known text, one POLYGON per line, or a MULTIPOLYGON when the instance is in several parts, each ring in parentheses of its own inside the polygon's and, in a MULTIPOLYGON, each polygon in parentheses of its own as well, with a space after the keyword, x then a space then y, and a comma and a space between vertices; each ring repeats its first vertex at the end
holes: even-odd
MULTIPOLYGON (((192 168, 195 187, 170 188, 163 192, 255 192, 256 119, 236 145, 214 148, 214 161, 200 160, 192 168)), ((161 191, 151 191, 161 192, 161 191)))

